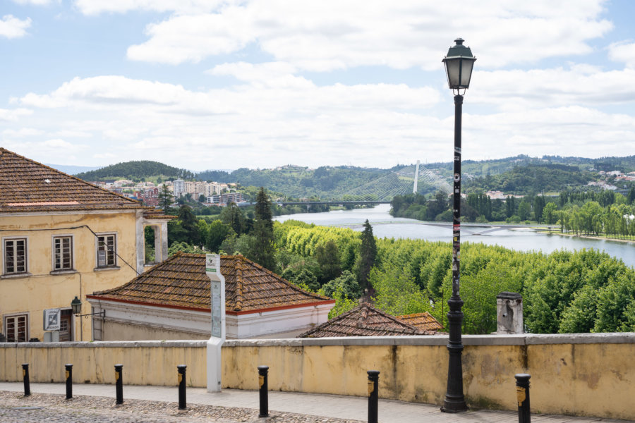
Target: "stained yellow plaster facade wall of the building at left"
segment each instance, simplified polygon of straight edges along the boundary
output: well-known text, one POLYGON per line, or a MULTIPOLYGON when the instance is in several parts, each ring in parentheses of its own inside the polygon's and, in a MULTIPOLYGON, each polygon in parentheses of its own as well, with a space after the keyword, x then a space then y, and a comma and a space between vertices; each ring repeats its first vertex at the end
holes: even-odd
MULTIPOLYGON (((42 312, 50 308, 70 308, 75 295, 83 302, 82 313, 90 313, 90 304, 85 295, 97 290, 120 286, 136 276, 134 269, 118 258, 119 269, 95 271, 97 257, 95 235, 87 228, 61 229, 89 226, 96 233, 116 233, 117 253, 136 266, 135 212, 104 214, 41 214, 24 216, 2 216, 1 238, 20 236, 27 238, 28 277, 0 279, 0 316, 29 313, 29 337, 44 337, 42 312), (6 231, 6 230, 15 231, 6 231), (44 229, 43 231, 20 231, 44 229), (59 230, 52 230, 59 229, 59 230), (52 275, 54 236, 73 235, 73 260, 75 273, 52 275)), ((4 247, 4 243, 0 248, 4 247)), ((4 255, 1 256, 4 260, 4 255)), ((4 269, 3 269, 4 271, 4 269)), ((83 317, 83 339, 92 339, 91 319, 83 317)), ((80 321, 73 317, 75 339, 80 339, 80 321)), ((4 330, 4 319, 0 319, 0 331, 4 330)))

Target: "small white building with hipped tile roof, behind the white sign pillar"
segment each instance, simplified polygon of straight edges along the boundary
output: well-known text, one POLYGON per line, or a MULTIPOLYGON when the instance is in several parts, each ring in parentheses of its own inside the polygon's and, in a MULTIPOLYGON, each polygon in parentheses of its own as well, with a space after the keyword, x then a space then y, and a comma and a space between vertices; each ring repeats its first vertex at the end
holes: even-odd
MULTIPOLYGON (((308 293, 241 255, 221 256, 226 337, 293 338, 328 319, 335 300, 308 293)), ((205 255, 177 253, 114 289, 86 296, 95 341, 210 338, 205 255)))

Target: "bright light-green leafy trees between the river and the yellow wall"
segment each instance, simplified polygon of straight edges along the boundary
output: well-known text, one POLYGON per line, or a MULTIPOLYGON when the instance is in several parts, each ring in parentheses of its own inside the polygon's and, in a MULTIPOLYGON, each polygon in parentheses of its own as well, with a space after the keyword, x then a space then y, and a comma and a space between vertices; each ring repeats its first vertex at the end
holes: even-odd
MULTIPOLYGON (((361 249, 361 233, 351 229, 286 221, 275 223, 274 233, 286 262, 296 266, 295 273, 303 266, 320 269, 315 251, 325 240, 334 241, 341 257, 349 250, 358 257, 361 249), (298 257, 306 262, 301 263, 298 257)), ((394 312, 425 306, 437 320, 444 321, 452 293, 451 245, 385 238, 376 240, 376 248, 375 269, 370 272, 375 304, 394 312), (377 283, 380 286, 375 286, 377 283)), ((327 286, 330 292, 330 283, 322 290, 327 286)), ((466 333, 495 331, 496 295, 504 290, 523 295, 526 327, 533 333, 626 331, 633 330, 629 328, 635 324, 635 270, 604 253, 591 250, 543 255, 482 244, 461 245, 466 333)), ((349 299, 344 287, 340 291, 340 301, 349 299)), ((336 293, 337 289, 333 290, 334 298, 336 293)))

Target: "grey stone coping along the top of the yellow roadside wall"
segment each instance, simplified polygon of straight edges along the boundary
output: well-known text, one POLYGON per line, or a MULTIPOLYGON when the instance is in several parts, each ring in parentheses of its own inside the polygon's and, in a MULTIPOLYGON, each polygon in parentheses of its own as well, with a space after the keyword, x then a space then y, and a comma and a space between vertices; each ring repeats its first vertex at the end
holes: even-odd
MULTIPOLYGON (((309 345, 447 345, 447 335, 343 336, 339 338, 241 339, 225 341, 225 347, 301 347, 309 345)), ((464 335, 463 345, 545 345, 635 343, 635 332, 556 333, 522 335, 464 335)), ((0 348, 204 348, 207 341, 95 341, 0 343, 0 348)))

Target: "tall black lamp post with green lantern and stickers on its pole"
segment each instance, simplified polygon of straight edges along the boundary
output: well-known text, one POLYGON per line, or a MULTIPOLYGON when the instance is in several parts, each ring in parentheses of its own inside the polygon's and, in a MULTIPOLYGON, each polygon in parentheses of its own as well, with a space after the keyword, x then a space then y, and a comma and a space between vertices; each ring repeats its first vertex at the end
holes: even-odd
POLYGON ((476 57, 469 47, 463 45, 463 39, 454 40, 456 44, 449 48, 443 59, 447 83, 454 92, 454 206, 452 207, 452 297, 447 300, 449 312, 449 341, 447 350, 449 360, 447 366, 447 392, 441 410, 444 412, 461 412, 467 410, 463 395, 463 366, 461 354, 461 324, 463 324, 463 300, 459 293, 459 265, 461 263, 461 113, 463 94, 470 86, 472 68, 476 57))

